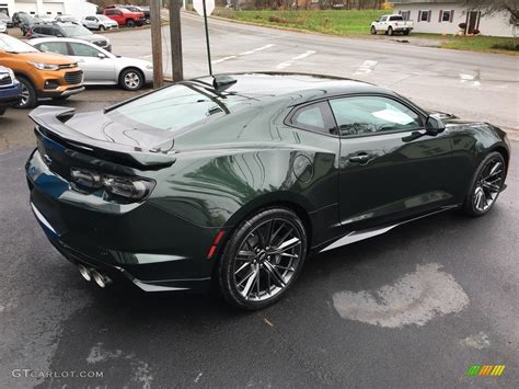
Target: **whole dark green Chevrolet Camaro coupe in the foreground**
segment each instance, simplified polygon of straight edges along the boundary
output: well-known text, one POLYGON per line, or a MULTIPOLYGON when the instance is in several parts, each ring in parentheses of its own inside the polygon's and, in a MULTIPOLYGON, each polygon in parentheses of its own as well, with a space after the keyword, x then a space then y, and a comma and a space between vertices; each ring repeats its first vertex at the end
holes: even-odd
POLYGON ((219 75, 92 113, 41 106, 31 206, 86 281, 261 309, 305 258, 452 208, 487 214, 506 134, 366 82, 219 75))

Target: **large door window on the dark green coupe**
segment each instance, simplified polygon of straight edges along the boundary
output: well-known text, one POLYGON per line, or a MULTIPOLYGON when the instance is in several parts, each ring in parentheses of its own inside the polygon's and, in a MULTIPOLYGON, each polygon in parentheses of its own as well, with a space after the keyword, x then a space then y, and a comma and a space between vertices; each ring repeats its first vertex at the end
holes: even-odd
POLYGON ((357 96, 330 101, 341 136, 411 130, 423 127, 420 116, 395 100, 357 96))

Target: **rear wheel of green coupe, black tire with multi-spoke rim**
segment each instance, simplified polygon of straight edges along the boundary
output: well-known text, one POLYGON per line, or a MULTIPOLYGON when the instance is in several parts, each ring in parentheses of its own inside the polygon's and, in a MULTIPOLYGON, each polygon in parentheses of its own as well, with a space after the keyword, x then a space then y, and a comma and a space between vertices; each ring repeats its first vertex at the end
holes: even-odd
POLYGON ((307 256, 307 245, 304 226, 290 209, 268 208, 243 220, 227 242, 218 266, 218 285, 223 298, 230 305, 244 310, 258 310, 275 304, 299 275, 307 256), (263 238, 260 232, 262 230, 266 231, 263 238), (280 231, 274 233, 278 230, 280 231), (290 231, 293 231, 293 234, 289 234, 290 231), (292 238, 288 239, 291 236, 292 238), (278 238, 281 238, 280 241, 274 243, 278 238), (257 245, 251 244, 254 239, 257 245), (290 243, 293 239, 296 244, 290 243), (291 248, 280 251, 280 245, 287 242, 291 248), (243 251, 244 248, 250 251, 243 251), (287 253, 285 250, 292 252, 287 253), (239 283, 238 274, 241 270, 244 272, 242 274, 246 275, 239 283), (264 287, 266 286, 265 290, 261 288, 261 281, 264 287))

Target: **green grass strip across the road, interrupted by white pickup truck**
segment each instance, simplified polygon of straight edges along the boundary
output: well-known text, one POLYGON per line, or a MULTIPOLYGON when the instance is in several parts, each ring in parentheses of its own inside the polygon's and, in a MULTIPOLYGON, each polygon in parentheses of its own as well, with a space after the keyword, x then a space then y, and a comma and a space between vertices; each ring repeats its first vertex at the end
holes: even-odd
MULTIPOLYGON (((215 15, 233 19, 242 22, 251 22, 263 25, 281 26, 297 30, 313 31, 323 34, 380 38, 369 33, 371 22, 383 14, 391 13, 388 10, 367 11, 333 11, 333 10, 301 10, 301 11, 232 11, 217 9, 215 15)), ((400 37, 400 35, 395 35, 400 37)), ((459 50, 500 53, 519 56, 519 38, 506 38, 495 36, 452 36, 440 34, 411 33, 413 37, 429 38, 440 42, 440 47, 459 50), (494 47, 494 46, 499 47, 494 47), (516 47, 515 50, 504 47, 516 47)), ((402 37, 407 38, 407 37, 402 37)))

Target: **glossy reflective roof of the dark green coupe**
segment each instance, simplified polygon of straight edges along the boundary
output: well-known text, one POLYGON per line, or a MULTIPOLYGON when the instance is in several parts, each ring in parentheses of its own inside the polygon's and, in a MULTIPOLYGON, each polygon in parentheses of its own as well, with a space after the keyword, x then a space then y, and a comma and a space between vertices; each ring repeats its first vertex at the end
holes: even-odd
MULTIPOLYGON (((357 94, 382 93, 393 94, 391 90, 368 82, 342 77, 301 73, 301 72, 249 72, 226 75, 237 80, 237 83, 226 90, 255 99, 272 96, 290 96, 295 104, 324 98, 357 94)), ((204 77, 198 80, 212 83, 212 78, 204 77)))

